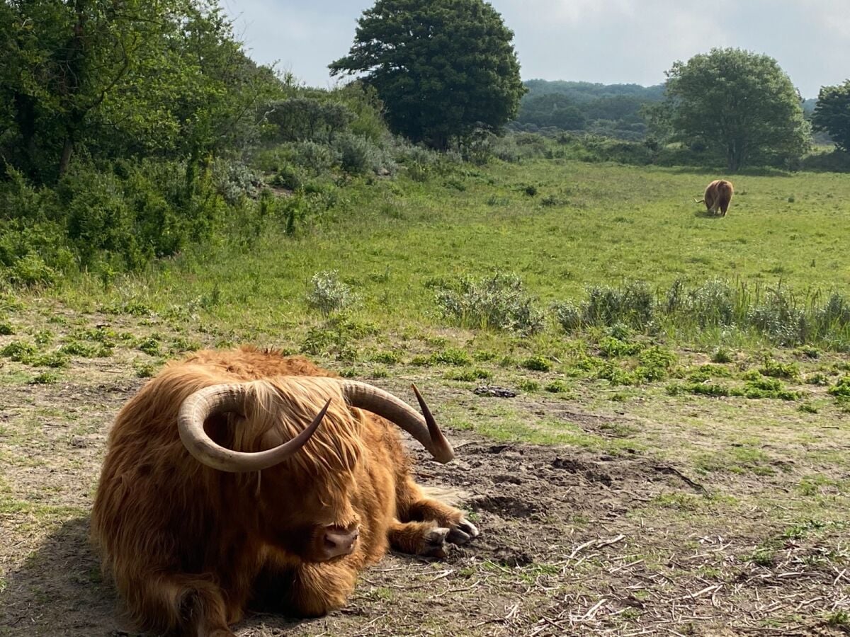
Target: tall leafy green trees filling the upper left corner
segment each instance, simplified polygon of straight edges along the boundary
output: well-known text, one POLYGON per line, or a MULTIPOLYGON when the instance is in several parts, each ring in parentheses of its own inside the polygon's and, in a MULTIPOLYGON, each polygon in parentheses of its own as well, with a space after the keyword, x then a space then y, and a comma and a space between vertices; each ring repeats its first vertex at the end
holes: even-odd
POLYGON ((275 86, 207 0, 0 0, 0 157, 50 182, 71 157, 197 158, 275 86))

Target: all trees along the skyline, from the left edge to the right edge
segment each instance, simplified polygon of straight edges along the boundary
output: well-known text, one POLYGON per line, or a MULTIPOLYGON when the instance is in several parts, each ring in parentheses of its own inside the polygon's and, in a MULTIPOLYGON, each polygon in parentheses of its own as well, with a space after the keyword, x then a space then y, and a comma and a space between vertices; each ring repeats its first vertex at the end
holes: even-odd
MULTIPOLYGON (((619 121, 638 135, 648 122, 657 141, 709 149, 731 171, 807 148, 800 95, 766 55, 713 49, 676 62, 663 99, 661 87, 593 96, 594 85, 524 86, 512 40, 484 0, 377 0, 330 68, 360 76, 394 132, 435 149, 498 132, 518 113, 574 130, 619 121), (640 100, 650 105, 638 112, 640 100)), ((0 154, 36 183, 55 181, 81 150, 196 162, 244 147, 282 90, 246 56, 218 5, 199 0, 3 0, 0 54, 0 154)), ((812 117, 844 149, 847 104, 850 82, 824 87, 812 117)))

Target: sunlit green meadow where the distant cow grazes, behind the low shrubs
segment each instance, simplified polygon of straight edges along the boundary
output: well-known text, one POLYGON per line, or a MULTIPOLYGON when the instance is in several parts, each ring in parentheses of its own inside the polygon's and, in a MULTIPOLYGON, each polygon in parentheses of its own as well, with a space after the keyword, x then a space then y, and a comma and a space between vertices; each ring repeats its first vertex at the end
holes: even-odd
MULTIPOLYGON (((241 251, 219 245, 131 277, 97 302, 160 309, 204 302, 210 318, 249 329, 309 320, 311 276, 337 270, 382 328, 438 327, 429 284, 494 271, 519 274, 545 304, 587 285, 643 279, 664 288, 720 278, 751 285, 847 290, 850 183, 835 173, 734 179, 725 218, 694 204, 715 175, 676 169, 528 161, 426 183, 404 178, 343 190, 337 208, 296 238, 270 232, 241 251), (526 189, 536 190, 534 196, 526 189)), ((63 290, 73 302, 81 285, 63 290)))

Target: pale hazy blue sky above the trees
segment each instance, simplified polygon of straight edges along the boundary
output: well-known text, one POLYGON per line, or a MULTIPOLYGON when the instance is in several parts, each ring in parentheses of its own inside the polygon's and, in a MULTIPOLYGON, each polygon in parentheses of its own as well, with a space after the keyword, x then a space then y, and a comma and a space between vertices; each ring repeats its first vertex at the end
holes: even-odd
MULTIPOLYGON (((221 0, 253 59, 328 87, 363 0, 221 0)), ((664 82, 712 47, 771 55, 803 96, 850 77, 850 0, 493 0, 524 80, 664 82)))

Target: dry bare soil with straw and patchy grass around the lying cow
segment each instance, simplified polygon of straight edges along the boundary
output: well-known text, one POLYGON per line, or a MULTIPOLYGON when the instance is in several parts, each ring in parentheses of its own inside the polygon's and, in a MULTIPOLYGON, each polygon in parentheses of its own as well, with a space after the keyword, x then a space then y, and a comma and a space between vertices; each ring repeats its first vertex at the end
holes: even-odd
MULTIPOLYGON (((71 325, 109 321, 137 334, 153 329, 127 316, 67 318, 71 325)), ((38 328, 48 318, 19 320, 38 328)), ((138 356, 117 347, 109 358, 75 357, 51 384, 29 384, 21 364, 7 361, 0 370, 0 635, 138 634, 123 622, 88 544, 106 434, 144 382, 134 371, 138 356)), ((768 455, 769 471, 706 472, 675 445, 689 436, 696 447, 716 451, 711 437, 668 423, 679 409, 683 420, 723 430, 728 414, 706 407, 711 399, 660 403, 656 412, 626 403, 618 412, 585 394, 479 397, 434 381, 427 370, 405 369, 405 379, 413 378, 435 406, 445 401, 486 415, 492 405, 510 404, 530 420, 560 419, 620 444, 610 454, 604 444, 536 446, 449 430, 457 456, 450 465, 411 446, 422 483, 468 493, 465 506, 480 538, 443 561, 387 555, 363 574, 342 610, 309 621, 255 614, 238 635, 850 631, 846 417, 830 413, 816 421, 820 437, 768 455), (615 420, 619 426, 609 426, 615 420), (622 443, 635 436, 629 426, 645 431, 634 448, 622 443)), ((401 378, 382 384, 404 395, 401 378)), ((782 447, 782 418, 776 422, 774 433, 762 427, 747 435, 782 447)))

